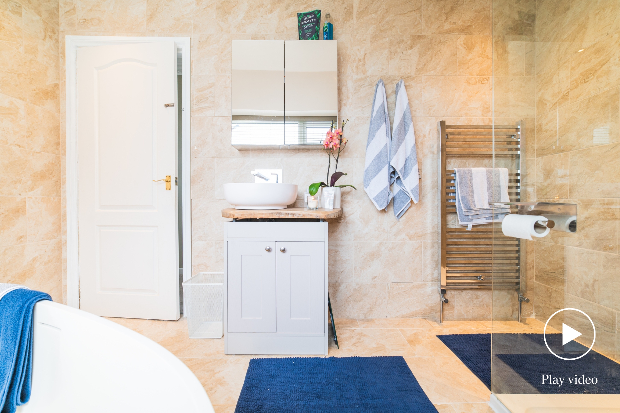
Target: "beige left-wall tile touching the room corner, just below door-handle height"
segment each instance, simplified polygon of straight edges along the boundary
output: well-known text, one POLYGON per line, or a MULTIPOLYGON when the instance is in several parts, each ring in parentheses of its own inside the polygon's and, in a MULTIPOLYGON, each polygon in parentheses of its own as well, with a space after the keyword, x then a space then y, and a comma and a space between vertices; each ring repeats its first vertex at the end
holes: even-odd
POLYGON ((60 238, 60 197, 28 197, 26 212, 28 217, 28 242, 60 238))

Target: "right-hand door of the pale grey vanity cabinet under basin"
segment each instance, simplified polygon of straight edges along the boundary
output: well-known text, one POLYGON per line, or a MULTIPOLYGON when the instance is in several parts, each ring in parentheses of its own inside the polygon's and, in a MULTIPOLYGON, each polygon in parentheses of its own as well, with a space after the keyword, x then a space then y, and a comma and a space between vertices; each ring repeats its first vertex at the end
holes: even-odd
POLYGON ((276 243, 278 332, 325 331, 324 248, 316 241, 276 243))

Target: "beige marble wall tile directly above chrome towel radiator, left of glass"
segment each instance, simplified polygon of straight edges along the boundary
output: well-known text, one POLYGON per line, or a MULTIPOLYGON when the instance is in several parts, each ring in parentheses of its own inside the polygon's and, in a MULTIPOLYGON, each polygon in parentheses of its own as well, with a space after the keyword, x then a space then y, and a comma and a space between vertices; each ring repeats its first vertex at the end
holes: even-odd
POLYGON ((487 76, 424 76, 423 115, 483 117, 491 114, 487 76))

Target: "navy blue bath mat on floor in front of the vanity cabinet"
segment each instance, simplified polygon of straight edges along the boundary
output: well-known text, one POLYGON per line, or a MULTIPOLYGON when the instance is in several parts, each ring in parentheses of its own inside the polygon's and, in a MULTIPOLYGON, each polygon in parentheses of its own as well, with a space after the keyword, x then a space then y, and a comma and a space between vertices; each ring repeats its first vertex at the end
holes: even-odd
POLYGON ((436 413, 402 357, 253 358, 235 413, 436 413))

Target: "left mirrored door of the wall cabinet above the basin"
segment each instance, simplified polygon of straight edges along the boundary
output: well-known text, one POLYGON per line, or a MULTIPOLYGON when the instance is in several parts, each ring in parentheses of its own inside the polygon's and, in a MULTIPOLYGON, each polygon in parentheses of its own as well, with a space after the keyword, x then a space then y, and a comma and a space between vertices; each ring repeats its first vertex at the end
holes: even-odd
POLYGON ((284 41, 232 41, 232 145, 284 144, 284 41))

